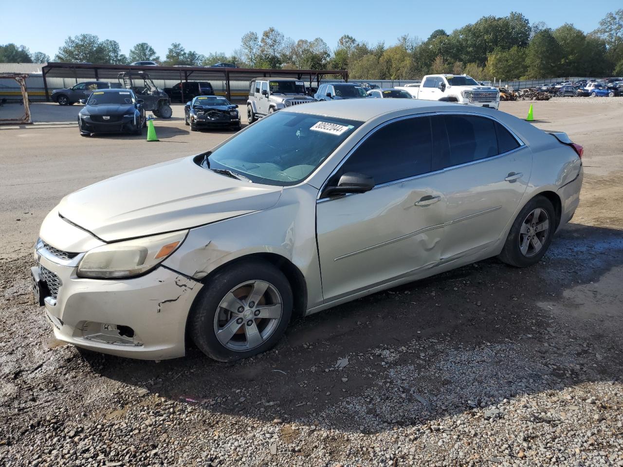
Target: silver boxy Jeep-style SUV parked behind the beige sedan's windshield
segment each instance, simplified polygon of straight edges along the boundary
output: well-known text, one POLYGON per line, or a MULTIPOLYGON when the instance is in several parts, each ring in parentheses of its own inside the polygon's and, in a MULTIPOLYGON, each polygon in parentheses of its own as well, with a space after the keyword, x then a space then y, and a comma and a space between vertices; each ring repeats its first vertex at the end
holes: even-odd
POLYGON ((255 78, 249 83, 247 121, 253 123, 260 117, 282 108, 315 102, 305 93, 305 83, 295 78, 255 78))

